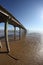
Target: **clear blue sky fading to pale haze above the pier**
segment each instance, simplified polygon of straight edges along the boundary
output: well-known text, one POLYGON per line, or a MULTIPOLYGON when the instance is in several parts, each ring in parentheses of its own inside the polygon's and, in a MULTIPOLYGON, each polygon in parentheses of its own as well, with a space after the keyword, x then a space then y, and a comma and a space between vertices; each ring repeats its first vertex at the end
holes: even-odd
POLYGON ((28 30, 43 31, 43 0, 0 0, 0 5, 11 12, 28 30))

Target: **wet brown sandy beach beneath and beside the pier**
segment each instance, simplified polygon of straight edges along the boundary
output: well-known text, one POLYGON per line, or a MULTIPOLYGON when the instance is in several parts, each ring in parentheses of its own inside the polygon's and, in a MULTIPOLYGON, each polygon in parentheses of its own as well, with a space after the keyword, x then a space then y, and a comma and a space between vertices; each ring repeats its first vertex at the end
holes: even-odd
POLYGON ((18 60, 0 54, 0 65, 43 65, 43 35, 30 33, 21 40, 10 39, 9 45, 9 54, 18 60))

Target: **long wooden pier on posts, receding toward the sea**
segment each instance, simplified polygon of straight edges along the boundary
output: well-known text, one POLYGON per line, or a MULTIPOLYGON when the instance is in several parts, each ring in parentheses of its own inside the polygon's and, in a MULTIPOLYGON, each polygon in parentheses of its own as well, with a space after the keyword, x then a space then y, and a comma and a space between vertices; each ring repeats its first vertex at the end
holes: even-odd
POLYGON ((9 41, 8 41, 8 24, 11 24, 14 26, 14 40, 16 39, 16 27, 19 28, 19 39, 21 36, 21 29, 23 29, 26 33, 26 28, 11 14, 9 13, 4 7, 0 6, 0 23, 4 22, 5 23, 5 42, 6 42, 6 48, 7 51, 0 52, 0 53, 9 53, 10 48, 9 48, 9 41))

